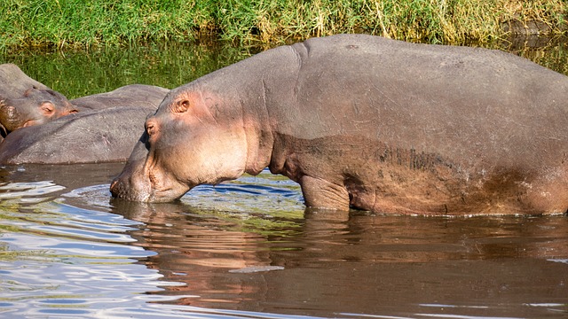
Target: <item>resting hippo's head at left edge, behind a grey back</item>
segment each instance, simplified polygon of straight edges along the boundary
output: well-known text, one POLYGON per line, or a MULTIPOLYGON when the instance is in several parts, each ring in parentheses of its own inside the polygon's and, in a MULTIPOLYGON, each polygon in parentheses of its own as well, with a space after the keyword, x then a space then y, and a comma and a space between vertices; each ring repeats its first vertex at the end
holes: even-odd
POLYGON ((28 89, 22 97, 0 100, 0 123, 6 133, 18 128, 43 124, 77 112, 59 92, 52 89, 28 89))

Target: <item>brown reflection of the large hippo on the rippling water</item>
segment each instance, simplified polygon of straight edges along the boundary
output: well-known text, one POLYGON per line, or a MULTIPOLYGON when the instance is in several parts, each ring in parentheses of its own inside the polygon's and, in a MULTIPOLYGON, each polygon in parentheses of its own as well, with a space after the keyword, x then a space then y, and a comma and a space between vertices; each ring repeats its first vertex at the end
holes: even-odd
MULTIPOLYGON (((270 183, 264 177, 256 185, 270 183)), ((225 187, 234 186, 217 186, 218 192, 225 187)), ((214 206, 218 194, 208 194, 201 203, 214 206)), ((305 218, 292 214, 271 224, 270 208, 259 214, 262 198, 253 201, 247 192, 231 197, 250 205, 236 212, 224 211, 223 204, 219 210, 186 205, 194 196, 201 194, 190 192, 177 204, 116 201, 112 208, 145 224, 131 232, 134 245, 157 252, 148 258, 149 268, 185 283, 156 292, 193 296, 177 300, 179 305, 323 316, 534 317, 568 311, 564 217, 307 210, 305 218), (247 209, 253 214, 243 215, 247 209), (287 226, 279 223, 283 219, 287 226), (269 225, 256 229, 258 220, 269 225)))

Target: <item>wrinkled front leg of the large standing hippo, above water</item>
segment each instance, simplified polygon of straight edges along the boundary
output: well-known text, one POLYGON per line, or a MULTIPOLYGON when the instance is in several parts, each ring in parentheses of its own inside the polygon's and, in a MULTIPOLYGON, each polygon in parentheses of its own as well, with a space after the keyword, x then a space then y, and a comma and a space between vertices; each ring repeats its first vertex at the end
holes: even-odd
POLYGON ((342 185, 304 175, 300 180, 305 206, 313 208, 349 210, 349 193, 342 185))

